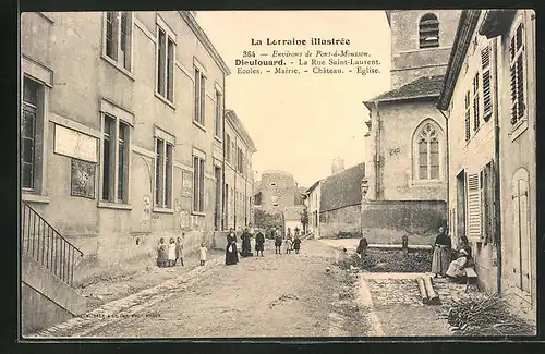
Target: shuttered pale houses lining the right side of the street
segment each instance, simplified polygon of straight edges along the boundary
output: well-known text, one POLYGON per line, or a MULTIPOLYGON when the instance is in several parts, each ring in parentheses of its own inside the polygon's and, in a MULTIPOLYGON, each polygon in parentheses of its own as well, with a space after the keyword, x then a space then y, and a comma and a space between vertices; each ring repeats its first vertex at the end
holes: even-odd
POLYGON ((438 107, 448 115, 449 219, 481 285, 536 309, 536 46, 531 10, 463 11, 438 107))

